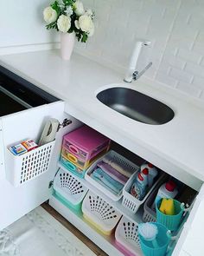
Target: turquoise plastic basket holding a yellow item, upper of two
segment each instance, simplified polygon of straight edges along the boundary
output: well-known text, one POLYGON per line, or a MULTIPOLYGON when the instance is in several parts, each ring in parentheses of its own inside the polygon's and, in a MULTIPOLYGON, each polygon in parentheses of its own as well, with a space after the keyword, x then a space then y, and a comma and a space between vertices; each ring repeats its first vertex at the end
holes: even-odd
POLYGON ((178 230, 182 221, 184 205, 180 201, 174 200, 175 215, 166 215, 159 210, 161 201, 162 199, 156 201, 156 222, 163 224, 170 231, 178 230))

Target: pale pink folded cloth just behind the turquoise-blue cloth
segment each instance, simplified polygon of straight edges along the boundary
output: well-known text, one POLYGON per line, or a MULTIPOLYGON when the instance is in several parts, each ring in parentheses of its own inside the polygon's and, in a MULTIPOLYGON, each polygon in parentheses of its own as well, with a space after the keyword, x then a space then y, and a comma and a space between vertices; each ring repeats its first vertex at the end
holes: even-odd
POLYGON ((125 184, 128 181, 128 178, 124 176, 124 174, 120 174, 115 168, 110 166, 108 163, 105 163, 104 161, 100 161, 97 166, 100 167, 105 172, 105 174, 108 174, 115 181, 118 181, 122 184, 125 184))

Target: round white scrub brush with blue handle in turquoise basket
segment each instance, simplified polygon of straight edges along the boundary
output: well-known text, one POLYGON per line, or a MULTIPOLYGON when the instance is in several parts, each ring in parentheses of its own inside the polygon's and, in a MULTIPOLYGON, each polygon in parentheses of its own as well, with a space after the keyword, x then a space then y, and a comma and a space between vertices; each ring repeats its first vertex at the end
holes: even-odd
POLYGON ((158 228, 153 223, 141 223, 138 225, 138 233, 143 237, 143 240, 151 241, 154 248, 159 247, 156 241, 156 235, 158 233, 158 228))

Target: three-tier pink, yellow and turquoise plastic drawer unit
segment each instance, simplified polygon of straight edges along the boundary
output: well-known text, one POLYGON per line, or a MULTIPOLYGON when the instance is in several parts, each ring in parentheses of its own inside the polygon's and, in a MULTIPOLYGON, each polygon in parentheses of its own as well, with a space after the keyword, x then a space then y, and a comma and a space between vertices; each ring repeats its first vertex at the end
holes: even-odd
POLYGON ((86 125, 63 137, 61 163, 73 174, 84 176, 86 168, 105 154, 110 139, 86 125))

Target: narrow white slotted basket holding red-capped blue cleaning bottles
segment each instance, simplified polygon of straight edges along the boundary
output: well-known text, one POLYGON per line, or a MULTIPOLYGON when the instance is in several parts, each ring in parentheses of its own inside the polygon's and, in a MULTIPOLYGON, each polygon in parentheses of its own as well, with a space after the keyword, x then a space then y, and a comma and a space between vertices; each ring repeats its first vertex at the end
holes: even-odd
POLYGON ((143 200, 138 200, 137 198, 135 198, 133 195, 130 194, 130 189, 131 189, 132 183, 135 181, 136 177, 137 177, 137 173, 132 174, 131 178, 124 185, 124 189, 123 189, 124 197, 122 200, 122 204, 124 205, 124 207, 126 207, 128 210, 130 210, 131 213, 137 213, 138 208, 148 198, 149 194, 156 187, 158 182, 160 182, 163 179, 163 174, 160 175, 160 177, 157 179, 157 181, 154 183, 154 185, 150 188, 149 192, 144 196, 143 200))

